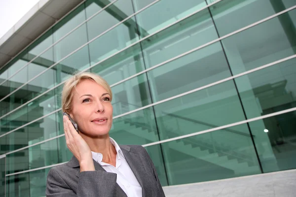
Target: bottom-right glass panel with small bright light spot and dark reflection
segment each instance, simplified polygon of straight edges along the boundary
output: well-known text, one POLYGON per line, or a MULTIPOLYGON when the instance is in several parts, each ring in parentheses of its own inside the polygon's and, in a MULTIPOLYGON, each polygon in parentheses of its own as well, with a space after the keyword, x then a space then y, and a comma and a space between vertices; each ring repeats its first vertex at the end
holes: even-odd
POLYGON ((263 172, 296 168, 296 111, 249 123, 263 172))

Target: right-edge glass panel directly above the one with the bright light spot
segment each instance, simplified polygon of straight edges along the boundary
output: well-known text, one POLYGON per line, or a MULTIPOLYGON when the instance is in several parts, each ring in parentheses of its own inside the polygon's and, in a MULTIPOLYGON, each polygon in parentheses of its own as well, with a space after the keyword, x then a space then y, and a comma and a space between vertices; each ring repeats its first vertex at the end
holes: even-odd
POLYGON ((292 59, 235 79, 248 119, 296 107, 295 64, 292 59))

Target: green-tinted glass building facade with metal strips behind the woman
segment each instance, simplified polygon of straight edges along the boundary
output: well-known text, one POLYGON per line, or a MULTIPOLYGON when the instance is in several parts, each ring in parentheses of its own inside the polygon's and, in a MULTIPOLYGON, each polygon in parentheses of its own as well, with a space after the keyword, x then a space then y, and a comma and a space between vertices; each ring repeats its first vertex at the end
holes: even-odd
POLYGON ((61 90, 104 77, 162 186, 296 168, 295 0, 86 0, 0 69, 0 196, 71 159, 61 90))

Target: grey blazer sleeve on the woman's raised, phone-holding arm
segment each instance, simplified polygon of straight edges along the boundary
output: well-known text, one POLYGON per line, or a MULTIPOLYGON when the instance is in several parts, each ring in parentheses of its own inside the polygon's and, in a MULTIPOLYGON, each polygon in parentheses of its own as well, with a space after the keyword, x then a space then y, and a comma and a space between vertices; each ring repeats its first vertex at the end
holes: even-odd
POLYGON ((61 177, 58 170, 51 168, 47 175, 46 197, 114 197, 116 174, 101 171, 80 172, 76 194, 61 177))

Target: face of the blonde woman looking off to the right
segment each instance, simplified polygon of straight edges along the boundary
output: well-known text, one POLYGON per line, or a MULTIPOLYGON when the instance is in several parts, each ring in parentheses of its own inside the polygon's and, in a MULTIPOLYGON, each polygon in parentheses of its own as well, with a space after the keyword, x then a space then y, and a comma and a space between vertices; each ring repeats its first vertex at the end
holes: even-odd
POLYGON ((96 82, 85 79, 73 90, 71 117, 85 135, 107 134, 112 126, 111 96, 96 82))

